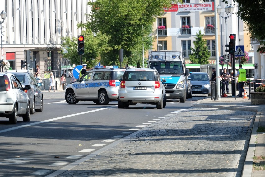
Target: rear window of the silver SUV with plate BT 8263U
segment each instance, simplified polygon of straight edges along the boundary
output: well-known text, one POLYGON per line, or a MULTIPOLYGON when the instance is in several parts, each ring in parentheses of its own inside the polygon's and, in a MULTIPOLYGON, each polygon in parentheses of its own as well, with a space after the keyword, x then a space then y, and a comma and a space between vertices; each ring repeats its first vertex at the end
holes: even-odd
POLYGON ((155 81, 155 75, 153 71, 128 71, 125 80, 155 81))

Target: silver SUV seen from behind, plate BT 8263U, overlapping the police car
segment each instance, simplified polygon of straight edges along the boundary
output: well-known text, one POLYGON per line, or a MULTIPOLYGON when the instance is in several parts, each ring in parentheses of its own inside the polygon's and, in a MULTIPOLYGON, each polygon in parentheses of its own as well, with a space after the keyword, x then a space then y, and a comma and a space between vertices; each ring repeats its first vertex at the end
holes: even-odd
POLYGON ((150 68, 128 68, 120 79, 118 108, 137 103, 153 104, 157 109, 165 108, 165 88, 157 70, 150 68))

